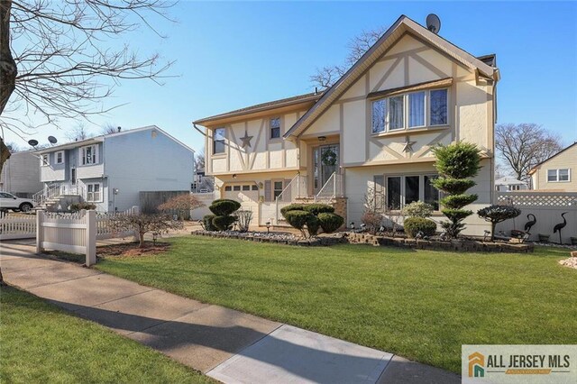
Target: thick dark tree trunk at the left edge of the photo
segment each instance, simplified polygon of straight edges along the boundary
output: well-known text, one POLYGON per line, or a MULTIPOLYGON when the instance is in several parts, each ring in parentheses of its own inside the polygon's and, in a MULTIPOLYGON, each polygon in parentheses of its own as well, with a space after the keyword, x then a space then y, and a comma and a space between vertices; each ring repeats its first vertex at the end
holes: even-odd
MULTIPOLYGON (((12 96, 16 87, 16 61, 10 50, 10 11, 12 0, 0 0, 0 116, 4 112, 8 99, 12 96)), ((4 142, 0 141, 0 176, 6 160, 10 157, 10 151, 4 142)))

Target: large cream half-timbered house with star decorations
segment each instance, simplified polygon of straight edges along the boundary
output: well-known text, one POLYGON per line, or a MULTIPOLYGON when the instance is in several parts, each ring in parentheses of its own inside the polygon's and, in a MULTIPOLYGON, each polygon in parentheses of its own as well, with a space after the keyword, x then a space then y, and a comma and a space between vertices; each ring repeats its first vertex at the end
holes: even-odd
MULTIPOLYGON (((260 224, 277 197, 302 201, 303 186, 309 201, 344 197, 347 223, 360 223, 365 197, 383 212, 417 200, 438 210, 431 150, 457 141, 481 149, 474 212, 494 193, 498 80, 494 55, 475 58, 401 16, 325 92, 194 123, 206 127, 206 174, 220 197, 242 201, 260 224)), ((467 233, 487 228, 476 215, 467 224, 467 233)))

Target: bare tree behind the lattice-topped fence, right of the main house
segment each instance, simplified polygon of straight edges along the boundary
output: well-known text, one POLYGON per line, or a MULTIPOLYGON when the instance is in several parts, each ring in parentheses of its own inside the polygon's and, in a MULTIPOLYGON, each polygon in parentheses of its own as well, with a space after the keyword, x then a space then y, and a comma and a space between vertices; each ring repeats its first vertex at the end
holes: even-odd
POLYGON ((541 161, 562 150, 561 139, 536 123, 499 124, 495 130, 495 149, 518 180, 541 161))

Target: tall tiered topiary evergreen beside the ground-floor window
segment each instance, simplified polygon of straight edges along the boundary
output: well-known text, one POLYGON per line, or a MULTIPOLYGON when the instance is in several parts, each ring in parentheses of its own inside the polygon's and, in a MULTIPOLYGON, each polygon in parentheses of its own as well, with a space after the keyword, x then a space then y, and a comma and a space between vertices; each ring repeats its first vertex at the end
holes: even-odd
POLYGON ((435 147, 433 152, 436 157, 435 169, 439 172, 433 186, 445 194, 441 199, 441 212, 449 219, 441 225, 447 236, 455 238, 465 227, 463 220, 472 215, 472 211, 463 207, 472 204, 478 197, 465 192, 477 184, 472 178, 481 169, 481 154, 479 148, 470 142, 435 147))

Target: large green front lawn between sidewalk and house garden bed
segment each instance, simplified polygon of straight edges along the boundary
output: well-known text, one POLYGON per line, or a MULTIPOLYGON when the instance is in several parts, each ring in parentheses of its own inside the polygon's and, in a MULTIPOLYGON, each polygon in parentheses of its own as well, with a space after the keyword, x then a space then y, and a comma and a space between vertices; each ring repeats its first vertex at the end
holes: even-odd
POLYGON ((170 239, 99 270, 185 297, 461 370, 461 344, 577 343, 577 270, 533 254, 296 248, 170 239))

